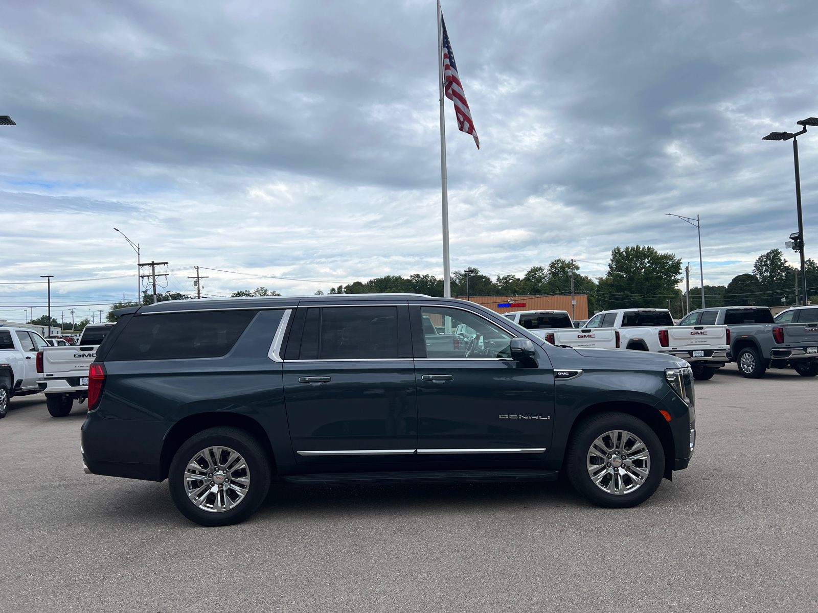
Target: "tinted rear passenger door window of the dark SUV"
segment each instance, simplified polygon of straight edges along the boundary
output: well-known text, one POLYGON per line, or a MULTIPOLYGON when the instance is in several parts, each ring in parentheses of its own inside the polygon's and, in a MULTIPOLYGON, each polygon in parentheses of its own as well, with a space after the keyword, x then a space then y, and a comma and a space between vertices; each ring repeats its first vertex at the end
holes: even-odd
MULTIPOLYGON (((434 325, 425 324, 434 334, 434 325)), ((398 307, 310 307, 299 360, 398 357, 398 307)))

